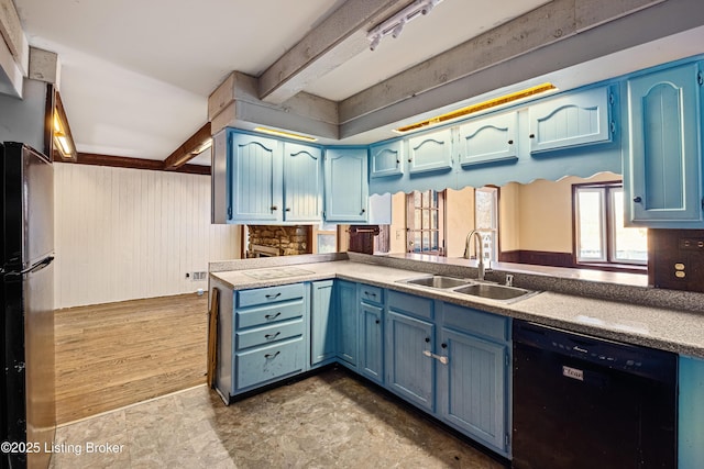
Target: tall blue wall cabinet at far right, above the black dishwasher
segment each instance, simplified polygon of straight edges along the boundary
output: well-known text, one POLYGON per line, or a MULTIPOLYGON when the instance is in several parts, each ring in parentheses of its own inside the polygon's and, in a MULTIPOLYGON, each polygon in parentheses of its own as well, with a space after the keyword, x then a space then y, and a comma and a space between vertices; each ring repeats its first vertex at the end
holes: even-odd
POLYGON ((628 80, 624 164, 626 220, 660 228, 704 227, 698 64, 628 80))

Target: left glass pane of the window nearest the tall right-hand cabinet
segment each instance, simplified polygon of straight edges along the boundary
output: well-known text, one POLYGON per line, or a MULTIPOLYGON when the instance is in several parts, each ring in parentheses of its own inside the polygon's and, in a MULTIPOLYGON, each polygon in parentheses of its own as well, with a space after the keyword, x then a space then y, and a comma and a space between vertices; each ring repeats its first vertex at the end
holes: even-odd
POLYGON ((606 260, 602 190, 578 190, 580 260, 606 260))

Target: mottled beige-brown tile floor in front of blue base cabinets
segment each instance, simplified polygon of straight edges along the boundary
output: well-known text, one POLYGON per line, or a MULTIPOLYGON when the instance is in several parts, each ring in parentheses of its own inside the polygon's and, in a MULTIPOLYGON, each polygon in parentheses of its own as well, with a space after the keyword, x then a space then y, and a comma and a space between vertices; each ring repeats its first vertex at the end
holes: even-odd
POLYGON ((504 466, 346 371, 331 369, 230 406, 202 386, 62 426, 51 467, 504 466))

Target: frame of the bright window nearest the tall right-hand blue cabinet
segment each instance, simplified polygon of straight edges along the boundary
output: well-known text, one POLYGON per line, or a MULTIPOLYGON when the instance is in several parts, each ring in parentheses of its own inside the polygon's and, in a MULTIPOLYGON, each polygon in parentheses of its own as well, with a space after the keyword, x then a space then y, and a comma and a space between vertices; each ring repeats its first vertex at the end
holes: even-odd
POLYGON ((575 267, 600 270, 630 271, 642 273, 648 269, 648 260, 630 260, 616 258, 616 213, 614 211, 614 193, 624 190, 623 181, 585 182, 572 185, 572 257, 575 267), (581 191, 600 192, 602 194, 602 250, 600 259, 580 258, 580 209, 578 194, 581 191))

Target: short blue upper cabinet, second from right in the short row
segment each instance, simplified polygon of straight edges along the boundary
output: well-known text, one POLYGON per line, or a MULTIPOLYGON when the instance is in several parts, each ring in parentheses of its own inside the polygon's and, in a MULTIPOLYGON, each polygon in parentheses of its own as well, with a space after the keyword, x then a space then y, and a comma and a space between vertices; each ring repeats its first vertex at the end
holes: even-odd
POLYGON ((518 112, 476 119, 460 125, 460 165, 518 158, 518 112))

